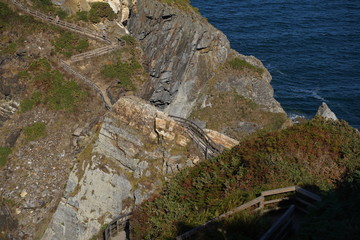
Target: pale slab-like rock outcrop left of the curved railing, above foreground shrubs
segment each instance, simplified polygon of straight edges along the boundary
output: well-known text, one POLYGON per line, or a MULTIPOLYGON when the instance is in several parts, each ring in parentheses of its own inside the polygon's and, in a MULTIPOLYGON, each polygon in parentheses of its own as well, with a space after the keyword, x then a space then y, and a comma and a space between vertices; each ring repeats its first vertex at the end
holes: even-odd
POLYGON ((43 239, 90 239, 201 157, 186 131, 154 106, 123 97, 78 156, 43 239))

